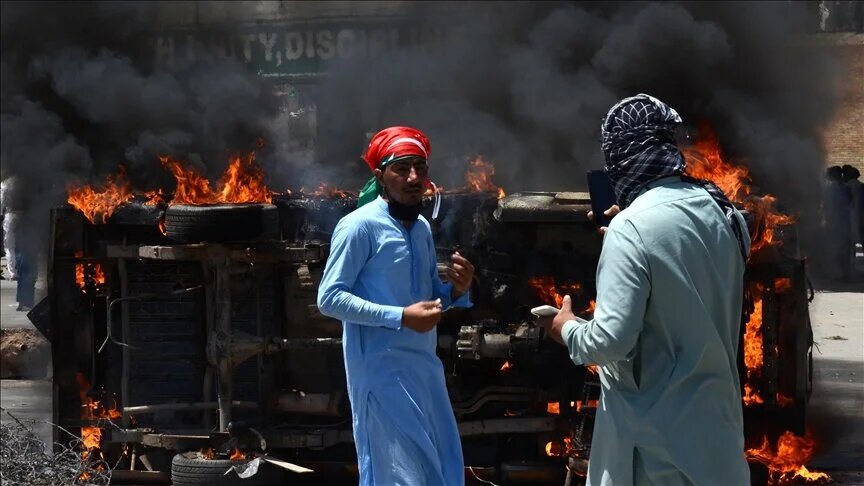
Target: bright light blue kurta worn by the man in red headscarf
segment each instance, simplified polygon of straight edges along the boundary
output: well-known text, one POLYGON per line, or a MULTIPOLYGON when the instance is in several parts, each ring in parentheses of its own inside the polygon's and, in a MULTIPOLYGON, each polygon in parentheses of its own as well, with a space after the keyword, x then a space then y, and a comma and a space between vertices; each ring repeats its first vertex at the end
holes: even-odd
POLYGON ((402 327, 402 309, 440 298, 429 222, 408 230, 380 197, 342 218, 318 289, 324 315, 343 321, 343 350, 362 485, 464 484, 462 445, 435 354, 437 332, 402 327))

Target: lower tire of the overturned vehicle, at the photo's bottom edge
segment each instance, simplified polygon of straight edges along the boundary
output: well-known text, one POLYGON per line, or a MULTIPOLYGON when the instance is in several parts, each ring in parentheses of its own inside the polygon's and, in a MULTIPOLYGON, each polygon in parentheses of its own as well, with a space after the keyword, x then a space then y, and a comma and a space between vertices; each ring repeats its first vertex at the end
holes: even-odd
POLYGON ((202 459, 195 451, 183 452, 171 460, 174 486, 281 486, 287 478, 278 466, 262 464, 254 476, 241 479, 235 472, 225 474, 240 461, 202 459))

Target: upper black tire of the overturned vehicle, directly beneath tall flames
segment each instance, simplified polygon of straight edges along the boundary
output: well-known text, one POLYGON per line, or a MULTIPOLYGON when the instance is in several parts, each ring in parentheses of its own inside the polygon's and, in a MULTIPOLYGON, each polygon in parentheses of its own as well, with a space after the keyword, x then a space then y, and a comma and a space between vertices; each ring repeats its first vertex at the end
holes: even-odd
POLYGON ((273 204, 177 204, 165 210, 165 232, 180 243, 255 241, 279 238, 273 204))

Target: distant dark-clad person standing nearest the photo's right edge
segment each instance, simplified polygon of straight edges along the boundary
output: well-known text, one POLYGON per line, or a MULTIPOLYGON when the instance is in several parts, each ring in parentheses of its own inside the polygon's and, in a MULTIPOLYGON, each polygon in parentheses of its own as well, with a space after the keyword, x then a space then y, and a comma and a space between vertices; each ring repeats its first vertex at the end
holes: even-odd
POLYGON ((826 238, 825 270, 829 278, 845 279, 851 273, 852 197, 849 188, 843 184, 843 169, 839 165, 825 170, 822 211, 826 238))

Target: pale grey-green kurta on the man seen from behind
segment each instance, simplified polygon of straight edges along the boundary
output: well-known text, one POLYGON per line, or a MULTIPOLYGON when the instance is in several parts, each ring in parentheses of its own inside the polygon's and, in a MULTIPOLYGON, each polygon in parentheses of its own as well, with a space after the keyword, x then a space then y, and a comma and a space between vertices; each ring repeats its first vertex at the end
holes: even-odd
POLYGON ((612 220, 594 319, 562 331, 576 364, 601 367, 589 484, 750 484, 736 364, 743 274, 722 211, 679 177, 612 220))

